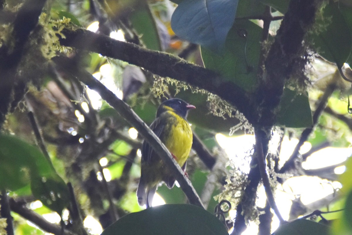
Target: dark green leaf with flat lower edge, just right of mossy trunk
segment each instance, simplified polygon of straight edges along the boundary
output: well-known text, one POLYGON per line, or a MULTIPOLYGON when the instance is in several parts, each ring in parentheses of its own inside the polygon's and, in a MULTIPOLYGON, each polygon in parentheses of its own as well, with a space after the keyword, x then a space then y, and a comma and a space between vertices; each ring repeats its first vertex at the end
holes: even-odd
POLYGON ((292 128, 313 126, 308 95, 285 88, 279 107, 276 124, 292 128))

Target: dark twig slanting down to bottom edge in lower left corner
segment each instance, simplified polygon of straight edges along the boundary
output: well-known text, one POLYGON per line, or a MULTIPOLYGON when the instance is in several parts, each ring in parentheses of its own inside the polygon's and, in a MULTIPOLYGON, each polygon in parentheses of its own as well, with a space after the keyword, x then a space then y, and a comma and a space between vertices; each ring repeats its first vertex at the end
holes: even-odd
MULTIPOLYGON (((55 235, 62 235, 61 227, 57 224, 48 222, 44 217, 38 215, 34 211, 26 208, 25 203, 16 202, 13 198, 10 198, 10 208, 13 212, 16 212, 23 218, 31 221, 36 224, 39 228, 47 231, 48 233, 52 233, 55 235)), ((64 230, 63 235, 76 235, 71 231, 64 230)))

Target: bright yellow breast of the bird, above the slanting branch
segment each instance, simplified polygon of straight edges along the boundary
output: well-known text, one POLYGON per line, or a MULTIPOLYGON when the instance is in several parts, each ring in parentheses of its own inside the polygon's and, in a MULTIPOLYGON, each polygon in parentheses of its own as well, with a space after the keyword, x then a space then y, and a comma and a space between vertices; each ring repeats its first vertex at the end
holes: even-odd
POLYGON ((188 122, 172 111, 167 111, 175 121, 169 126, 169 135, 165 138, 165 146, 174 154, 177 163, 182 167, 192 147, 193 134, 188 122))

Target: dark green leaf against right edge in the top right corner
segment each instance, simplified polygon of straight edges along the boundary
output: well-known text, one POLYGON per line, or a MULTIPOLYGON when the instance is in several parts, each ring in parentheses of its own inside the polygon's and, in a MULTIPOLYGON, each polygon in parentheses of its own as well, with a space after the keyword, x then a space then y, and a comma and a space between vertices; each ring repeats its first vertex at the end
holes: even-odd
POLYGON ((341 68, 351 53, 351 29, 341 14, 338 2, 330 1, 323 8, 322 15, 323 21, 320 20, 317 24, 320 27, 328 25, 322 32, 310 35, 310 38, 313 39, 313 46, 320 56, 341 68))

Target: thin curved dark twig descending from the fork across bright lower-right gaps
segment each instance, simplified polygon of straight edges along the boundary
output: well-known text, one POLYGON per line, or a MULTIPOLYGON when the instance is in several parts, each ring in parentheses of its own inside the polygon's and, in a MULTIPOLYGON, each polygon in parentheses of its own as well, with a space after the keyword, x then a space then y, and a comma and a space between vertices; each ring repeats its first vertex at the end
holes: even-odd
POLYGON ((279 219, 280 223, 283 224, 286 221, 281 216, 280 211, 276 205, 274 195, 272 194, 272 191, 271 191, 269 177, 268 177, 268 174, 266 173, 266 164, 265 164, 265 157, 264 157, 264 153, 263 153, 262 135, 258 134, 258 131, 257 131, 255 136, 256 136, 256 152, 257 152, 257 157, 258 157, 258 166, 259 166, 260 175, 262 176, 266 199, 268 200, 270 207, 274 210, 275 215, 279 219))

